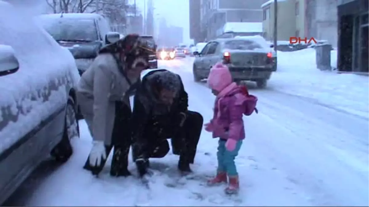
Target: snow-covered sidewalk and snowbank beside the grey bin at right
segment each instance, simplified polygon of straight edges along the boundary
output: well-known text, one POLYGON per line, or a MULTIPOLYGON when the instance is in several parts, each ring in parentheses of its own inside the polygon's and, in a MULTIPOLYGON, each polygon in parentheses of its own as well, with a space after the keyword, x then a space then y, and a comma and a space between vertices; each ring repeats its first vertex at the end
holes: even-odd
POLYGON ((369 118, 369 77, 320 71, 314 49, 278 52, 278 69, 269 87, 369 118))

